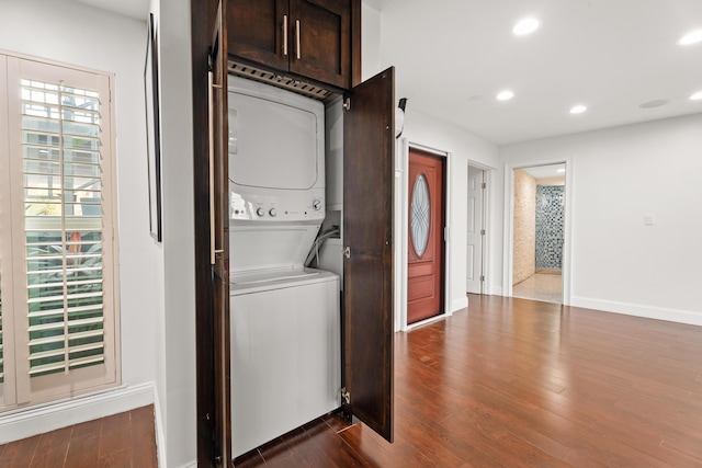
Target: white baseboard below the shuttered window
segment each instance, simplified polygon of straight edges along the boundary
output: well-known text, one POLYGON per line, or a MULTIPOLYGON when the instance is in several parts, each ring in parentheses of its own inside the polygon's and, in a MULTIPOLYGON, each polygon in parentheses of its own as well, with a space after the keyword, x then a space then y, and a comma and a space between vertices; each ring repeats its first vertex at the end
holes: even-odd
POLYGON ((0 444, 141 408, 154 403, 154 393, 147 383, 10 411, 0 415, 0 444))

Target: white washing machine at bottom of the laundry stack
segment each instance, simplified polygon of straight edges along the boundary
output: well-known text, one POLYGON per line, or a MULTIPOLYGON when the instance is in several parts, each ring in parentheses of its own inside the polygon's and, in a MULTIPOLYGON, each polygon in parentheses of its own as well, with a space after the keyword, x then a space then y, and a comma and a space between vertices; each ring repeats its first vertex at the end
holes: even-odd
POLYGON ((339 408, 339 277, 309 269, 235 274, 233 454, 339 408))

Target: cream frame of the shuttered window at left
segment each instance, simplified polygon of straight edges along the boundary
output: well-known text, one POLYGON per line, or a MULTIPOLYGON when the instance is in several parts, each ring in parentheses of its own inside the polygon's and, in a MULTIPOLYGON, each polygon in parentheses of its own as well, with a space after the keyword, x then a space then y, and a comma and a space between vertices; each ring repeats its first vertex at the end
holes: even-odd
MULTIPOLYGON (((0 50, 0 204, 10 198, 10 214, 0 206, 0 287, 3 301, 5 379, 0 384, 0 412, 121 385, 116 161, 114 138, 114 76, 50 60, 0 50), (4 69, 4 70, 3 70, 4 69), (93 90, 100 100, 100 156, 102 196, 102 319, 104 364, 30 377, 27 331, 26 236, 22 153, 21 80, 66 83, 93 90), (15 83, 16 88, 11 88, 15 83), (5 170, 7 169, 7 170, 5 170), (14 181, 14 182, 13 182, 14 181), (8 187, 9 186, 9 191, 8 187), (8 193, 9 192, 9 193, 8 193), (9 236, 8 236, 9 235, 9 236), (7 239, 10 238, 10 241, 7 239), (11 244, 8 247, 8 244, 11 244), (10 315, 10 310, 12 313, 10 315), (10 346, 11 344, 11 346, 10 346), (10 351, 8 353, 7 351, 10 351), (9 357, 12 357, 10 359, 9 357), (12 374, 10 374, 10 372, 12 374), (11 385, 11 381, 14 385, 11 385)), ((63 121, 63 118, 61 118, 63 121)), ((64 151, 64 148, 60 148, 64 151)), ((61 185, 61 192, 64 186, 61 185)), ((5 205, 7 206, 7 205, 5 205)), ((65 221, 64 221, 65 222, 65 221)), ((65 226, 65 224, 64 224, 65 226)), ((68 232, 64 228, 64 235, 68 232)))

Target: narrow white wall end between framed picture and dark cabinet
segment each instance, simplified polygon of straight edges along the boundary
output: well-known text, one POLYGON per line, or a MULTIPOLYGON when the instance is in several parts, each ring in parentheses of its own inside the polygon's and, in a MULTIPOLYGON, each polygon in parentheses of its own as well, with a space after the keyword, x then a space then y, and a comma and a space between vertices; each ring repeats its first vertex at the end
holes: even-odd
POLYGON ((157 388, 160 463, 195 466, 195 238, 190 1, 151 1, 158 19, 163 243, 157 388), (161 441, 163 442, 163 441, 161 441))

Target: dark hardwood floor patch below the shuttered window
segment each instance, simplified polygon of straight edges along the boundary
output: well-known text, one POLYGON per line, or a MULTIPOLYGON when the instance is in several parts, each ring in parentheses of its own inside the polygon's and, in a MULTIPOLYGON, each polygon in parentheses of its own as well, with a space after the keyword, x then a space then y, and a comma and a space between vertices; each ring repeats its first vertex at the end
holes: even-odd
POLYGON ((0 445, 0 467, 158 467, 154 406, 0 445))

